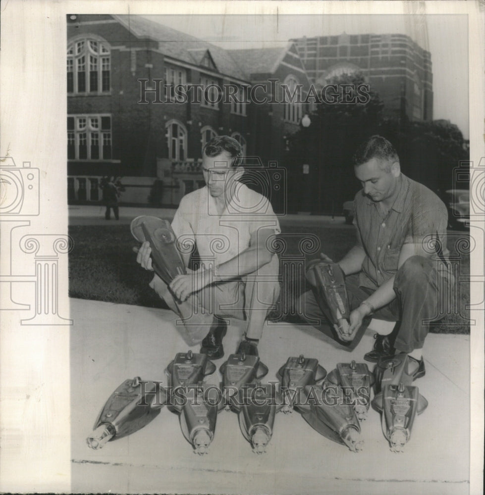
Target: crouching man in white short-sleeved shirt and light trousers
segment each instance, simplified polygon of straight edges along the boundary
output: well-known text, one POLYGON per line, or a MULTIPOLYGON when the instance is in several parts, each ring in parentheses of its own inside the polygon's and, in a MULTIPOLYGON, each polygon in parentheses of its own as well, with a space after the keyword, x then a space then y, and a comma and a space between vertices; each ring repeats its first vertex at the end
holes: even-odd
MULTIPOLYGON (((180 201, 172 222, 177 243, 188 266, 191 249, 202 261, 198 271, 187 269, 169 286, 157 275, 150 283, 176 312, 191 344, 201 342, 201 352, 223 356, 222 338, 227 322, 235 317, 247 322, 245 339, 236 352, 257 355, 257 345, 269 310, 279 297, 278 256, 271 238, 280 233, 278 218, 269 200, 239 182, 244 174, 242 148, 229 136, 218 136, 202 152, 206 186, 180 201), (206 335, 207 334, 207 335, 206 335)), ((152 270, 151 248, 143 243, 137 261, 152 270)))

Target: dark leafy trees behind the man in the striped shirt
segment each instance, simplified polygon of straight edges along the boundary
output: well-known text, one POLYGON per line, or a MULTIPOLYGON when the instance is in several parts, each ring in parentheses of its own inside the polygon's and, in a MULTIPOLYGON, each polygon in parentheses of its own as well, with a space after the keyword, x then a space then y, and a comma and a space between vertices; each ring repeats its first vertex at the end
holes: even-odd
MULTIPOLYGON (((396 148, 401 170, 440 196, 453 187, 453 168, 468 159, 463 135, 448 121, 410 121, 406 115, 386 117, 384 104, 377 93, 369 91, 365 102, 344 103, 349 88, 362 88, 362 74, 344 74, 329 82, 333 100, 317 103, 310 114, 312 124, 290 138, 289 162, 296 164, 288 172, 290 184, 305 189, 296 198, 313 198, 311 209, 318 213, 340 214, 345 200, 352 199, 360 188, 352 167, 352 155, 360 143, 380 134, 396 148), (311 177, 302 182, 301 166, 310 165, 311 177), (291 173, 294 173, 292 182, 291 173), (296 172, 295 172, 296 171, 296 172), (309 189, 308 189, 309 188, 309 189)), ((355 90, 356 91, 356 90, 355 90)), ((350 98, 351 99, 351 98, 350 98)), ((348 98, 347 98, 348 100, 348 98)), ((299 204, 297 204, 298 209, 299 204)))

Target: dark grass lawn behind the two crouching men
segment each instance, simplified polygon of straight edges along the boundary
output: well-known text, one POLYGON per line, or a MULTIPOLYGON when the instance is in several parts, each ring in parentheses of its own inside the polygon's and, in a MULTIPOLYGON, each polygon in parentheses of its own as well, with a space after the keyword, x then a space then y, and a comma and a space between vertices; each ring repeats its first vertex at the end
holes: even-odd
MULTIPOLYGON (((298 255, 299 243, 305 234, 314 234, 321 240, 321 251, 332 259, 339 259, 354 244, 352 229, 338 227, 285 225, 283 228, 287 248, 283 255, 298 255), (305 234, 301 234, 304 232, 305 234), (287 234, 290 234, 287 236, 287 234), (301 234, 301 235, 299 235, 301 234)), ((75 225, 69 227, 69 235, 74 241, 69 253, 69 296, 81 299, 93 299, 122 304, 136 304, 148 307, 166 307, 163 301, 148 286, 153 274, 143 270, 136 263, 136 254, 132 251, 138 243, 132 238, 127 225, 75 225)), ((462 236, 468 236, 463 234, 462 236)), ((450 236, 448 248, 454 251, 454 241, 450 236)), ((309 261, 318 253, 306 255, 309 261)), ((461 254, 460 270, 470 273, 470 257, 461 254)), ((294 275, 289 275, 293 277, 294 275)), ((301 292, 301 282, 290 279, 286 281, 291 287, 292 297, 301 292)), ((431 332, 435 333, 469 333, 470 327, 465 318, 470 312, 466 305, 470 301, 470 288, 461 285, 459 294, 460 311, 445 316, 433 323, 431 332), (464 318, 465 317, 465 318, 464 318)), ((291 300, 290 300, 291 305, 291 300)))

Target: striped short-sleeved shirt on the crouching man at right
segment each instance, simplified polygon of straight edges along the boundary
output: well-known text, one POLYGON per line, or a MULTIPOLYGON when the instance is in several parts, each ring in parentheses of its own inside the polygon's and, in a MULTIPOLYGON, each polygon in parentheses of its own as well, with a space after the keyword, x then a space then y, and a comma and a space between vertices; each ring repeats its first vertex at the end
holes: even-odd
POLYGON ((377 289, 398 269, 404 244, 421 244, 437 260, 447 262, 448 211, 430 189, 401 174, 401 189, 385 217, 371 198, 359 191, 354 199, 354 224, 366 257, 360 285, 377 289))

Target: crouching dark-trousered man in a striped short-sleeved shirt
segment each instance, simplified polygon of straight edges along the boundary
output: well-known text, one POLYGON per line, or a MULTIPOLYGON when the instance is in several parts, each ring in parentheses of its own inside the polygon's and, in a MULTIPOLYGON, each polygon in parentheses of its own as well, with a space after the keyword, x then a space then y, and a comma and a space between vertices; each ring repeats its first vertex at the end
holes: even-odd
MULTIPOLYGON (((348 342, 342 342, 323 316, 325 301, 316 291, 304 294, 300 307, 309 322, 320 320, 319 329, 348 348, 359 343, 371 315, 397 321, 389 335, 375 335, 365 359, 377 362, 396 350, 405 352, 410 373, 419 378, 425 374, 423 345, 429 323, 439 316, 438 307, 451 299, 448 213, 433 192, 401 173, 396 150, 380 136, 357 149, 354 171, 362 184, 354 200, 357 243, 337 263, 345 274, 352 310, 348 342)), ((329 260, 323 253, 321 257, 329 260)))

